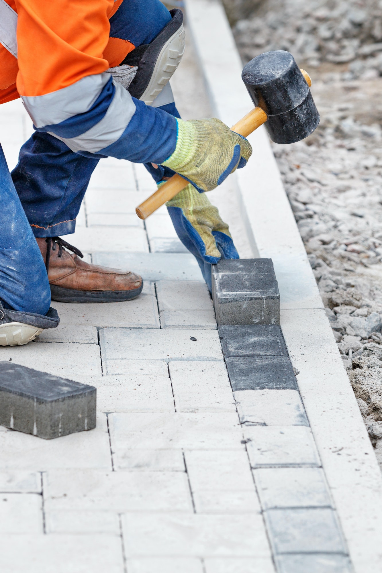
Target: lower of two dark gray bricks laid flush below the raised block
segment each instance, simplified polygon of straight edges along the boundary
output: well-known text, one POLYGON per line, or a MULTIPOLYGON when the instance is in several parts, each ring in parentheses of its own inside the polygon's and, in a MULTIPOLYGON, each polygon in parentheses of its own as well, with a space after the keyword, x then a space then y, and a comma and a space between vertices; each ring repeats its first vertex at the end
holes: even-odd
POLYGON ((245 356, 225 360, 233 391, 298 390, 297 380, 286 356, 245 356))

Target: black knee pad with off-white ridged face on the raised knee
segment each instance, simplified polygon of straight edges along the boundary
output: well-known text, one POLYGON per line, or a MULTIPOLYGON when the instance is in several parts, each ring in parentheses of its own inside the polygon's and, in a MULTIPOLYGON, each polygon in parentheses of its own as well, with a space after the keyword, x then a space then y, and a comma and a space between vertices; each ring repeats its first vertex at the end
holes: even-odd
POLYGON ((150 42, 128 53, 119 66, 109 68, 114 80, 133 97, 151 105, 170 80, 185 50, 181 10, 170 10, 170 22, 150 42))

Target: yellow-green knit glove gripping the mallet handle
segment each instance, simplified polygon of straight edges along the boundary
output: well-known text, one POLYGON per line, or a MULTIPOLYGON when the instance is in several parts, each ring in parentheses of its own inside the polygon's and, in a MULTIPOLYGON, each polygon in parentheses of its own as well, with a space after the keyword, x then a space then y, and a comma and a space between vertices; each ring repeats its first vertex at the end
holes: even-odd
POLYGON ((216 117, 177 118, 177 123, 176 148, 163 165, 182 175, 200 193, 215 189, 236 168, 244 167, 252 154, 250 142, 216 117))

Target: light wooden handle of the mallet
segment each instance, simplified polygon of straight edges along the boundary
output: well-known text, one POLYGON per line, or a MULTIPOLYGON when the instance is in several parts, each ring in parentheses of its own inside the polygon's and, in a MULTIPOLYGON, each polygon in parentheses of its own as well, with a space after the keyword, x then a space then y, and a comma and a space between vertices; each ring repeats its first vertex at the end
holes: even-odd
MULTIPOLYGON (((305 77, 306 83, 311 86, 311 79, 309 74, 305 70, 301 70, 302 75, 305 77)), ((266 112, 262 108, 255 107, 251 109, 247 115, 242 117, 235 125, 232 125, 232 131, 236 134, 243 135, 246 138, 248 135, 255 131, 260 125, 263 125, 268 119, 266 112)), ((135 209, 140 219, 147 219, 149 215, 154 213, 159 207, 164 205, 167 201, 170 201, 175 195, 177 195, 182 189, 188 186, 188 181, 178 175, 177 173, 170 177, 166 183, 163 183, 161 187, 153 195, 150 195, 146 201, 143 201, 141 205, 138 205, 135 209)))

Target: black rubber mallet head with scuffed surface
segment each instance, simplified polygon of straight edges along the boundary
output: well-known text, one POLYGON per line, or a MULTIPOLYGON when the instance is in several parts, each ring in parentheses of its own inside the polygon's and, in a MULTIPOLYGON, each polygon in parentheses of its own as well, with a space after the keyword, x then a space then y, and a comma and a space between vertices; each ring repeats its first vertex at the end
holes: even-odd
POLYGON ((272 141, 295 143, 313 133, 319 113, 292 54, 260 54, 244 66, 241 77, 254 104, 268 116, 265 126, 272 141))

